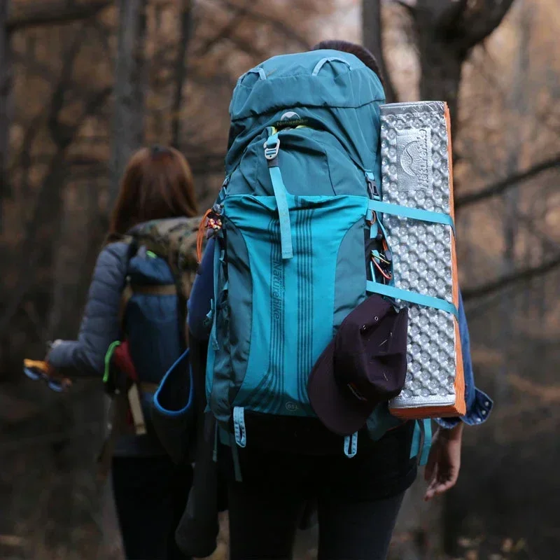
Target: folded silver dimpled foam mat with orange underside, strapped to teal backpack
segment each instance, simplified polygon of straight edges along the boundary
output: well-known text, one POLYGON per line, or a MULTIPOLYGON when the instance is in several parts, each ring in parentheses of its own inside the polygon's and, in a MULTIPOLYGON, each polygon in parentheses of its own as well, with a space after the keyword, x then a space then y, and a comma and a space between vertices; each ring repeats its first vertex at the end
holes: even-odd
POLYGON ((402 419, 465 414, 447 104, 381 106, 381 176, 382 202, 407 214, 383 214, 394 286, 443 301, 440 308, 398 301, 409 307, 407 377, 389 409, 402 419))

